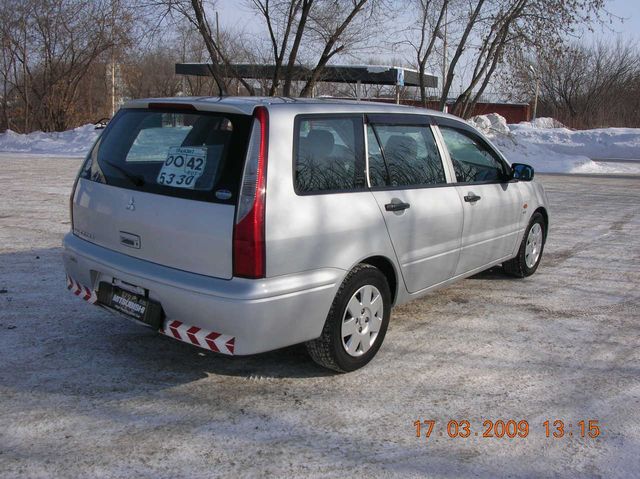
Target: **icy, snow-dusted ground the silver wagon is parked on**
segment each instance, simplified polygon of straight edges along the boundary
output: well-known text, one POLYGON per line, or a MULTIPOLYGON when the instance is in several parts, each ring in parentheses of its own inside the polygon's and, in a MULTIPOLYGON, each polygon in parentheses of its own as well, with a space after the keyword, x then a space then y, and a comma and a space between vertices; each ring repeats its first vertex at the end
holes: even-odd
POLYGON ((638 475, 637 177, 541 175, 534 276, 495 269, 397 308, 375 360, 333 375, 300 347, 223 357, 72 296, 79 160, 0 165, 0 477, 638 475), (429 441, 417 419, 436 421, 429 441), (470 436, 449 438, 451 419, 470 436), (529 435, 483 438, 487 419, 529 435), (581 438, 583 419, 602 434, 581 438))

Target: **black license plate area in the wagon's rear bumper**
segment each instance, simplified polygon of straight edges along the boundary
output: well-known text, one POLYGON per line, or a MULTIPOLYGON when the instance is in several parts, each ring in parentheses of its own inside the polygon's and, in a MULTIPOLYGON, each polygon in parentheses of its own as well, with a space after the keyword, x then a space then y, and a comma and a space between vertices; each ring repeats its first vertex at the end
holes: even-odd
POLYGON ((114 284, 101 282, 98 286, 98 302, 154 329, 162 326, 162 306, 149 299, 147 294, 133 293, 114 284))

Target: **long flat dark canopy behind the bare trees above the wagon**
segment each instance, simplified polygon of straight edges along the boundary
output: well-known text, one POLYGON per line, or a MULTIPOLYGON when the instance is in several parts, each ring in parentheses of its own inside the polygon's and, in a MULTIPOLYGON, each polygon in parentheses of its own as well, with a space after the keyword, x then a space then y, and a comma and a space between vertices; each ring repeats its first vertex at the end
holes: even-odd
MULTIPOLYGON (((223 68, 227 77, 244 79, 269 79, 273 77, 275 65, 235 64, 223 68), (226 71, 225 71, 226 70, 226 71)), ((211 76, 211 66, 207 63, 176 63, 176 74, 211 76)), ((311 77, 311 69, 295 66, 293 79, 306 81, 311 77)), ((420 74, 416 70, 395 66, 378 65, 327 65, 322 70, 319 81, 330 83, 361 83, 368 85, 420 86, 420 74)), ((438 86, 438 77, 424 75, 427 88, 438 86)))

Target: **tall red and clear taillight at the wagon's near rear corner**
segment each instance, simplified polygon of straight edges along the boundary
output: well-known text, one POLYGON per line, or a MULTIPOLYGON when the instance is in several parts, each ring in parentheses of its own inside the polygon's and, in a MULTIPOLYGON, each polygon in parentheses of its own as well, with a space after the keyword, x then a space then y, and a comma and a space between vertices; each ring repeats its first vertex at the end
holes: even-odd
POLYGON ((267 109, 256 108, 253 118, 233 230, 233 275, 256 279, 265 276, 264 216, 269 118, 267 109))

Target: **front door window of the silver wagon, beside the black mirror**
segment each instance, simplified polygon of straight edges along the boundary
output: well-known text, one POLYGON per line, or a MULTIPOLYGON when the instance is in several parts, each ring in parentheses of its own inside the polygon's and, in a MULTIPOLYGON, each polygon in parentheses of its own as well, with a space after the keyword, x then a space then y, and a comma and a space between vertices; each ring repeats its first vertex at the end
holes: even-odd
POLYGON ((458 183, 504 181, 505 164, 470 132, 441 126, 440 132, 449 150, 458 183))

